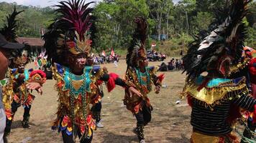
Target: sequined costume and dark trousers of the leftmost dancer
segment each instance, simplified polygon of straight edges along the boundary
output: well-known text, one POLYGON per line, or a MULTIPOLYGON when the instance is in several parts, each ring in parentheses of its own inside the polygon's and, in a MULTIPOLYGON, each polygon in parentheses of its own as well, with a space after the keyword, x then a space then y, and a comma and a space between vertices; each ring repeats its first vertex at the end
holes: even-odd
MULTIPOLYGON (((32 79, 35 78, 40 84, 45 83, 45 73, 40 70, 33 71, 33 69, 25 69, 24 73, 19 73, 18 69, 10 69, 9 73, 9 83, 3 87, 3 102, 7 120, 12 122, 17 108, 22 106, 24 107, 22 126, 28 127, 29 111, 35 96, 27 90, 26 84, 32 82, 32 79)), ((11 124, 9 124, 9 127, 11 124)))

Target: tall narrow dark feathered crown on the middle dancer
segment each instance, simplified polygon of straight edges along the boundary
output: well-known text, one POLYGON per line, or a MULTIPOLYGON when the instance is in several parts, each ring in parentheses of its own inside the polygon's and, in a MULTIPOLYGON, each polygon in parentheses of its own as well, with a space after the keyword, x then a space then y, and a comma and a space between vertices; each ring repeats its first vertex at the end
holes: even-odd
POLYGON ((147 39, 147 20, 142 17, 134 19, 137 28, 134 31, 131 46, 129 46, 127 54, 127 66, 137 66, 137 61, 147 59, 147 51, 145 42, 147 39))

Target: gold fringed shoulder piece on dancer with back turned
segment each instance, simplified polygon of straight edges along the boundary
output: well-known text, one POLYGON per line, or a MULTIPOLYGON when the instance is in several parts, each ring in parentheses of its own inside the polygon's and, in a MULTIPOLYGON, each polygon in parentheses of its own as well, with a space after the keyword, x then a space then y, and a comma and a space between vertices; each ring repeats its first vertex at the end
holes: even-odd
POLYGON ((221 104, 222 101, 232 100, 240 97, 242 94, 249 93, 245 77, 232 80, 212 79, 206 87, 198 87, 200 87, 200 84, 196 84, 196 82, 187 82, 182 96, 193 97, 198 102, 205 104, 206 107, 214 107, 216 104, 221 104))

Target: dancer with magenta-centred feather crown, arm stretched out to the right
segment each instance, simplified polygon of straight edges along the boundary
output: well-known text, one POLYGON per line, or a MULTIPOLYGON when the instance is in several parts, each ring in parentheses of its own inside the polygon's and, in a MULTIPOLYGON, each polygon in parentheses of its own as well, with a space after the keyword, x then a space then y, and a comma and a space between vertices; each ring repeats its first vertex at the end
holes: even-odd
POLYGON ((91 105, 101 100, 98 85, 102 81, 107 82, 109 92, 118 84, 140 95, 116 74, 107 74, 100 66, 86 66, 91 51, 88 34, 92 24, 90 4, 92 2, 85 4, 81 0, 60 1, 56 9, 58 18, 43 36, 58 91, 57 119, 52 129, 62 133, 65 143, 75 142, 77 136, 80 142, 91 142, 96 129, 91 105))

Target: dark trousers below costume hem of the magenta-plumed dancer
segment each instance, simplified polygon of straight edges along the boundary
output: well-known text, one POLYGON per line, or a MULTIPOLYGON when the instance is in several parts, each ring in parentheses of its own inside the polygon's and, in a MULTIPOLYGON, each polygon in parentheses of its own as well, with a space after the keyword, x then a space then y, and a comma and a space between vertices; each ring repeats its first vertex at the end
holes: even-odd
MULTIPOLYGON (((92 132, 92 131, 91 131, 92 132)), ((73 141, 73 134, 72 135, 68 135, 65 133, 65 130, 61 132, 62 136, 63 136, 63 143, 75 143, 73 141)), ((82 134, 80 131, 78 131, 78 137, 80 140, 80 143, 91 143, 91 141, 93 140, 93 134, 91 134, 91 137, 90 138, 87 138, 87 137, 82 137, 82 134)))

